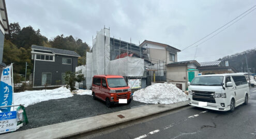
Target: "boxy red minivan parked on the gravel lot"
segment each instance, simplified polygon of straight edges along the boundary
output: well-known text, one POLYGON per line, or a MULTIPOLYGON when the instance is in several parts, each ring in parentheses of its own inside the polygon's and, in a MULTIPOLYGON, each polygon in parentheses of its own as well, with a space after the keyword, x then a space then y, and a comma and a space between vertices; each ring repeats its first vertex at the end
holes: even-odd
POLYGON ((126 84, 125 78, 118 75, 95 75, 92 85, 93 98, 106 101, 106 106, 111 107, 114 103, 128 104, 131 102, 131 89, 126 84), (122 102, 121 102, 122 100, 122 102))

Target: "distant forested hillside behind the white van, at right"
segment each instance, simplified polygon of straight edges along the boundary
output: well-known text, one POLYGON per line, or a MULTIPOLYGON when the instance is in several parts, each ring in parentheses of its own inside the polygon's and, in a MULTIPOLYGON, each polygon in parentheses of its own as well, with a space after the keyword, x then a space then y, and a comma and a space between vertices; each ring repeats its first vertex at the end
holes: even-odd
POLYGON ((256 70, 256 49, 250 49, 243 51, 242 53, 237 53, 231 56, 223 57, 221 60, 229 61, 229 65, 233 66, 240 72, 247 72, 246 58, 248 62, 248 67, 251 68, 250 72, 256 70))

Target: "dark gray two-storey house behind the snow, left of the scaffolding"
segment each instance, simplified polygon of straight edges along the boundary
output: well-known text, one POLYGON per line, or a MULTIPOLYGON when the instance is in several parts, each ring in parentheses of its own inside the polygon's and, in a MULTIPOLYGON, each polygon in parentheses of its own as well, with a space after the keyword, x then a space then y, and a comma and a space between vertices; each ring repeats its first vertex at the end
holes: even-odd
POLYGON ((67 71, 76 72, 78 55, 75 51, 32 45, 34 60, 33 88, 49 87, 65 84, 67 71))

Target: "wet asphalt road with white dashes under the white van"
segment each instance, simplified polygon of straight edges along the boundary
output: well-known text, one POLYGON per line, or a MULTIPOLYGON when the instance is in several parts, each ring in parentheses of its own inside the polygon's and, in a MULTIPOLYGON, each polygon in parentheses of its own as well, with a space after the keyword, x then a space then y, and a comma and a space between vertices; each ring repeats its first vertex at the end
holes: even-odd
POLYGON ((256 88, 235 112, 186 107, 80 138, 256 138, 256 88))

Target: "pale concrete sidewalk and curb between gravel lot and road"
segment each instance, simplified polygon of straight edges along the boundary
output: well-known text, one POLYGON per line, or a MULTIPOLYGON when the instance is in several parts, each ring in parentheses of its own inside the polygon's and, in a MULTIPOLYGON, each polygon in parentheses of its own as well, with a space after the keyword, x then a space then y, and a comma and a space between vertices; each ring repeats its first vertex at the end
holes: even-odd
POLYGON ((118 125, 130 123, 157 114, 169 112, 188 106, 188 101, 173 103, 170 105, 146 105, 138 108, 102 114, 93 117, 65 121, 63 123, 43 126, 8 134, 2 134, 0 138, 74 138, 84 136, 96 131, 112 128, 118 125), (119 118, 117 115, 125 118, 119 118))

